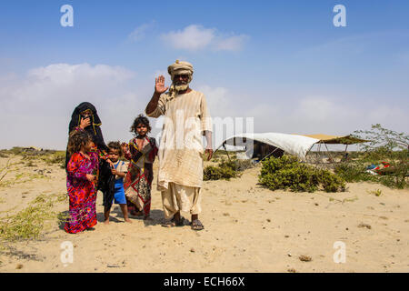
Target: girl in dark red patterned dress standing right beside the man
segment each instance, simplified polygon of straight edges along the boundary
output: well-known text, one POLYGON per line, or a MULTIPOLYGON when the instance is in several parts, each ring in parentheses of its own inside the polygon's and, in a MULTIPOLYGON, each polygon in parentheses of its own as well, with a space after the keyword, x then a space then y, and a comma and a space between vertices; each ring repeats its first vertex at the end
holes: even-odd
POLYGON ((138 115, 131 126, 135 137, 129 144, 123 144, 125 158, 130 161, 124 182, 128 209, 144 219, 150 219, 153 164, 158 151, 155 138, 147 136, 150 131, 149 119, 138 115))

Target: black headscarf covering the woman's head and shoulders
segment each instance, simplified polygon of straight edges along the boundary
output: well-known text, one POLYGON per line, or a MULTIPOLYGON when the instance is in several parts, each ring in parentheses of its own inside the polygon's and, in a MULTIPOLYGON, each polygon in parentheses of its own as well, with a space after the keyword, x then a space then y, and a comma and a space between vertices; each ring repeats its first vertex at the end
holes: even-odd
POLYGON ((92 120, 91 125, 85 127, 85 131, 92 136, 93 142, 98 149, 108 151, 101 128, 99 127, 102 125, 101 119, 99 119, 99 116, 96 113, 95 106, 89 102, 83 102, 75 107, 73 115, 71 115, 70 125, 68 126, 68 134, 71 133, 76 126, 81 124, 81 113, 87 109, 92 112, 92 120))

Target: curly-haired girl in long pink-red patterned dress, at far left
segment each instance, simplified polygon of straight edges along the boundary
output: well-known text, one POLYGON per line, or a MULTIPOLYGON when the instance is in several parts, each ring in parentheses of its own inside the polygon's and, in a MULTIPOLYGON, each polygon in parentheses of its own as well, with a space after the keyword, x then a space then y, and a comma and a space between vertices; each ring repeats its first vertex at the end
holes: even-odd
POLYGON ((67 233, 75 234, 96 225, 94 173, 98 156, 91 151, 92 145, 92 137, 85 131, 74 131, 68 140, 66 188, 70 217, 64 227, 67 233))

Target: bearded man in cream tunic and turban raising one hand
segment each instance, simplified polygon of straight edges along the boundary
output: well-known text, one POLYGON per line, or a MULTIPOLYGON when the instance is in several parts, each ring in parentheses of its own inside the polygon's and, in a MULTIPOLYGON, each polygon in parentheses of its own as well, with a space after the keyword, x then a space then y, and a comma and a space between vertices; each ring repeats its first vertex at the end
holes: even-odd
POLYGON ((203 184, 202 135, 206 138, 205 153, 210 160, 212 149, 212 120, 205 95, 189 87, 194 73, 193 65, 177 61, 169 65, 172 85, 168 92, 165 77, 155 78, 155 93, 145 109, 151 117, 165 115, 159 146, 159 173, 157 188, 162 193, 165 218, 172 217, 164 226, 184 226, 181 211, 192 215, 191 227, 202 230, 199 220, 201 187, 203 184))

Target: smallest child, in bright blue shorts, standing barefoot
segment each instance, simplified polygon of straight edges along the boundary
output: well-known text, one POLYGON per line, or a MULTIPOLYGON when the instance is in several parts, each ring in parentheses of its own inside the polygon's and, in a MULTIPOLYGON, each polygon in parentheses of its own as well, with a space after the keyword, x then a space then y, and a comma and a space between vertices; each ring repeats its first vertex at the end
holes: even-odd
MULTIPOLYGON (((112 162, 111 172, 113 175, 115 175, 114 201, 115 204, 119 204, 119 206, 121 207, 122 213, 124 214, 125 222, 132 223, 132 221, 128 217, 128 208, 126 206, 126 198, 124 191, 124 177, 128 170, 127 166, 125 165, 125 162, 119 160, 119 157, 123 156, 121 143, 110 142, 108 143, 108 148, 109 159, 112 162)), ((111 205, 104 207, 105 225, 109 224, 109 213, 111 212, 111 205)))

